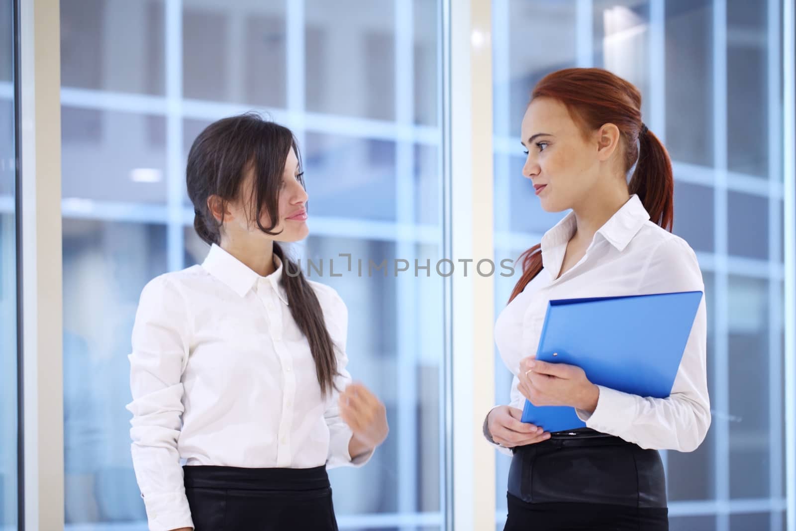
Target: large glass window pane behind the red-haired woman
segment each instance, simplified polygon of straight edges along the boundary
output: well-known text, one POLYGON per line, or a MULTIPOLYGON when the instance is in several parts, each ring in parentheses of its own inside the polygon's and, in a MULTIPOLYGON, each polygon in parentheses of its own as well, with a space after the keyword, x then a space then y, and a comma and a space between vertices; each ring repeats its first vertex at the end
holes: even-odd
MULTIPOLYGON (((781 20, 781 2, 727 2, 720 28, 726 30, 726 41, 714 38, 719 33, 713 30, 713 3, 492 2, 495 255, 516 258, 564 215, 544 213, 521 174, 521 117, 537 80, 582 65, 607 68, 636 84, 642 91, 642 116, 664 137, 673 159, 674 232, 697 253, 708 304, 713 421, 697 451, 663 452, 671 529, 716 529, 717 518, 731 529, 768 529, 769 521, 774 529, 782 522, 781 513, 771 508, 782 504, 784 441, 782 425, 772 421, 782 418, 776 392, 782 387, 782 340, 773 339, 781 330, 771 326, 781 311, 782 291, 771 287, 780 286, 781 262, 770 261, 782 256, 782 240, 769 237, 771 231, 778 234, 769 212, 781 209, 782 203, 776 189, 762 179, 782 178, 772 173, 779 165, 769 160, 769 139, 778 134, 770 117, 782 112, 779 97, 769 97, 770 84, 779 79, 781 67, 777 64, 770 72, 768 62, 769 54, 778 53, 769 43, 778 29, 768 24, 781 20), (591 29, 591 38, 583 28, 591 29), (715 58, 724 52, 727 79, 714 80, 715 58), (654 71, 659 60, 660 71, 654 71), (716 131, 720 120, 714 122, 714 102, 722 99, 728 127, 716 131), (652 109, 663 111, 661 131, 650 123, 652 109), (714 148, 724 142, 723 135, 727 160, 716 161, 714 148), (725 163, 730 172, 727 189, 715 185, 720 177, 716 166, 725 163), (727 239, 720 240, 724 235, 727 239), (727 271, 716 268, 724 263, 727 271), (759 501, 759 511, 753 504, 744 510, 748 514, 733 514, 728 520, 716 515, 716 499, 728 500, 735 510, 732 502, 738 498, 759 501), (696 507, 700 516, 693 515, 696 507)), ((519 271, 513 278, 496 279, 497 312, 518 278, 519 271)), ((496 357, 498 404, 508 400, 510 382, 510 373, 496 357)), ((505 517, 509 461, 497 455, 497 529, 505 517)))

